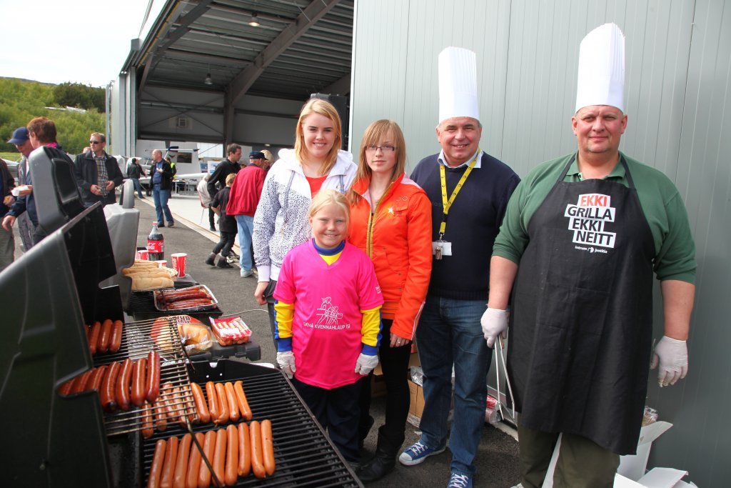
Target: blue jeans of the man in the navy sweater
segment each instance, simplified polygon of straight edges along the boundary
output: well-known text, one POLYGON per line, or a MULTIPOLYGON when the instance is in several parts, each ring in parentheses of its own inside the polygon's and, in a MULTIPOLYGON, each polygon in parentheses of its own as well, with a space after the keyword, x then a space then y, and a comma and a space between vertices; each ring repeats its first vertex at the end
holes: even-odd
POLYGON ((455 369, 451 470, 473 475, 474 457, 485 428, 485 398, 492 350, 482 337, 485 300, 455 300, 428 295, 416 330, 424 372, 421 443, 434 449, 447 443, 447 416, 455 369))

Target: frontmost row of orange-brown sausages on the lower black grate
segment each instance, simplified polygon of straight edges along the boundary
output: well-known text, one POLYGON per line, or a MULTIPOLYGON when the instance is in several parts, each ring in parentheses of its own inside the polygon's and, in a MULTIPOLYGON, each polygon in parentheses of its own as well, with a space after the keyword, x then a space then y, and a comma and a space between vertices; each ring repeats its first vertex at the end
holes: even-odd
MULTIPOLYGON (((226 429, 198 432, 196 440, 211 463, 216 478, 227 487, 239 477, 254 473, 257 478, 271 476, 276 468, 270 420, 247 425, 230 424, 226 429)), ((211 470, 192 435, 160 439, 155 444, 148 488, 206 488, 211 486, 211 470)))

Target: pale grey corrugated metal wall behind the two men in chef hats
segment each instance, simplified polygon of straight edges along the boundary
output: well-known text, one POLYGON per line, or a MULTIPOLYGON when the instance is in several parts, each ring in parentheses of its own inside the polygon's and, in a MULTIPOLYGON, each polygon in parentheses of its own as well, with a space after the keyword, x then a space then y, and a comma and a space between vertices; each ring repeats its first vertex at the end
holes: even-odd
MULTIPOLYGON (((617 23, 626 35, 629 122, 621 149, 675 181, 697 244, 690 373, 673 388, 660 389, 651 380, 648 405, 675 427, 656 441, 650 465, 689 470, 698 486, 725 486, 731 479, 725 415, 731 404, 727 2, 358 1, 352 146, 357 151, 371 121, 390 118, 404 129, 409 168, 439 151, 436 56, 457 45, 477 53, 482 149, 520 175, 574 151, 578 46, 605 22, 617 23)), ((660 337, 661 301, 655 305, 660 337)))

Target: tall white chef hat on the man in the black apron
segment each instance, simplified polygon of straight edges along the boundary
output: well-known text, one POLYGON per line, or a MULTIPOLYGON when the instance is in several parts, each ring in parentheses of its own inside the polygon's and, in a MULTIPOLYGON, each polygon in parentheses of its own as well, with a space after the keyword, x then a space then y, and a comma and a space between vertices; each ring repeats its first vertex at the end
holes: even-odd
POLYGON ((615 23, 597 27, 581 41, 576 111, 588 105, 624 112, 624 34, 615 23))

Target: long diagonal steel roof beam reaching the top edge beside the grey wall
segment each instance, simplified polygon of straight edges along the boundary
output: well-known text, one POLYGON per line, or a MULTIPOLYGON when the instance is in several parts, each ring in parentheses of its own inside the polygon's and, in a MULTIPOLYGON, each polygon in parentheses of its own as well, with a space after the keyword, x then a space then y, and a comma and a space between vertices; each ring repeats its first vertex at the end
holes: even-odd
MULTIPOLYGON (((264 72, 281 53, 284 52, 293 42, 298 40, 303 34, 310 29, 311 26, 322 18, 327 12, 335 7, 340 0, 314 0, 307 6, 305 10, 298 16, 294 25, 287 26, 287 29, 281 31, 270 45, 254 59, 254 63, 240 72, 236 78, 227 86, 227 92, 230 94, 230 103, 235 105, 251 85, 264 72)), ((228 131, 227 131, 228 132, 228 131)), ((233 132, 231 132, 233 133, 233 132)))

